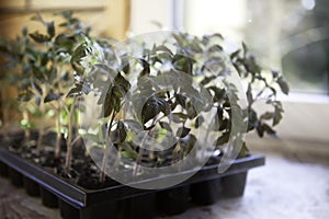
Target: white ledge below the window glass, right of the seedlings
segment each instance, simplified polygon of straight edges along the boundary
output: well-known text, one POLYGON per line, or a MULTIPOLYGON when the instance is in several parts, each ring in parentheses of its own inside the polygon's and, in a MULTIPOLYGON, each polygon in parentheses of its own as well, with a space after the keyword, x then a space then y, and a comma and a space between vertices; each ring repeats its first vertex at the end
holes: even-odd
MULTIPOLYGON (((284 110, 283 119, 274 127, 280 138, 299 142, 326 142, 329 146, 328 95, 304 93, 277 95, 284 110)), ((262 102, 258 102, 256 108, 259 112, 269 111, 268 105, 262 102)))

